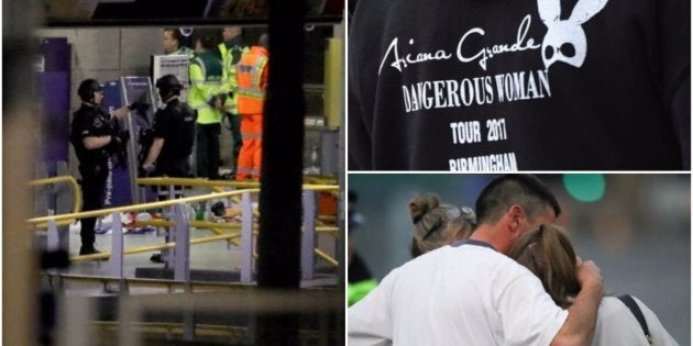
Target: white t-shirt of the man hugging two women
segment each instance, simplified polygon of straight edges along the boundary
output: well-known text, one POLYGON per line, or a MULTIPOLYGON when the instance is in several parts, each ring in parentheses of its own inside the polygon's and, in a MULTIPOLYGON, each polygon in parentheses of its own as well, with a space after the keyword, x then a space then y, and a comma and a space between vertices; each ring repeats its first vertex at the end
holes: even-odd
POLYGON ((349 345, 549 345, 568 317, 527 268, 479 245, 394 269, 349 309, 349 345))

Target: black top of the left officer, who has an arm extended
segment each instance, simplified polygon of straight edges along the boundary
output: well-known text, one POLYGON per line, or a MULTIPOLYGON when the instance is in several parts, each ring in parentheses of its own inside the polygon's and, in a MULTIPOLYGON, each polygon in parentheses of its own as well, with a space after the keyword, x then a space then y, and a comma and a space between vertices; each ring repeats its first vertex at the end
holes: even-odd
POLYGON ((87 149, 85 137, 108 136, 114 133, 114 124, 111 116, 98 107, 81 104, 73 114, 70 124, 70 143, 75 147, 75 154, 80 165, 106 165, 109 157, 107 146, 97 149, 87 149))

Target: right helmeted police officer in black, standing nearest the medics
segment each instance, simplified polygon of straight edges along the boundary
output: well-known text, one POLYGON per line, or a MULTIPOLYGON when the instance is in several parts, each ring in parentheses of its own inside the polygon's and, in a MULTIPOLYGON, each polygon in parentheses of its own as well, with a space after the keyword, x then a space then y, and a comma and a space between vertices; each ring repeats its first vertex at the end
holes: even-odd
MULTIPOLYGON (((166 107, 154 114, 152 132, 154 141, 142 168, 150 171, 150 176, 188 177, 190 176, 188 157, 193 154, 197 119, 193 109, 178 100, 183 85, 176 76, 161 77, 156 80, 156 88, 166 107)), ((175 188, 175 197, 183 197, 182 187, 175 188)), ((168 199, 168 191, 158 190, 158 199, 168 199)), ((151 260, 162 263, 162 255, 154 254, 151 260)))

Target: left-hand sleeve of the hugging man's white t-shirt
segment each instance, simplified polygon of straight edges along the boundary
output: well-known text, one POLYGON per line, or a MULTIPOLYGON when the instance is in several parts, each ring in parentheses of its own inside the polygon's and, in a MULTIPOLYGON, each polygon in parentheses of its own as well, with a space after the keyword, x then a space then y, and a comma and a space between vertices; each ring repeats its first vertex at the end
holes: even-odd
POLYGON ((366 297, 348 310, 346 330, 350 346, 392 345, 393 319, 391 297, 397 269, 391 271, 366 297))

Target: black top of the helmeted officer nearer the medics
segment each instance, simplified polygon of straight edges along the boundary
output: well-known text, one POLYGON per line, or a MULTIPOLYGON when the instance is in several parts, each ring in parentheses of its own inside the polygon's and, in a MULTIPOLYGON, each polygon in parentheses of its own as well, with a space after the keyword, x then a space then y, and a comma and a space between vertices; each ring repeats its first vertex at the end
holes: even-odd
POLYGON ((166 107, 154 114, 154 138, 164 138, 156 170, 169 177, 185 177, 188 175, 188 156, 193 153, 195 138, 195 116, 187 103, 177 99, 166 103, 166 107))

